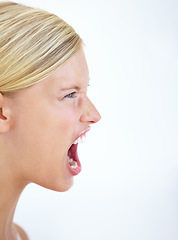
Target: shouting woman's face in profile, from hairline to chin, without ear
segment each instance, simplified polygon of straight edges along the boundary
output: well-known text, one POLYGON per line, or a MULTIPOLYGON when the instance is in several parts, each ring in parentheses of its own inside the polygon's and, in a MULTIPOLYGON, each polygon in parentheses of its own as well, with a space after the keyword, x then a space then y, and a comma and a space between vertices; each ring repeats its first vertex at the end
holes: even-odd
POLYGON ((89 73, 82 48, 53 75, 7 96, 7 132, 14 174, 56 191, 66 191, 81 170, 77 141, 100 115, 87 97, 89 73))

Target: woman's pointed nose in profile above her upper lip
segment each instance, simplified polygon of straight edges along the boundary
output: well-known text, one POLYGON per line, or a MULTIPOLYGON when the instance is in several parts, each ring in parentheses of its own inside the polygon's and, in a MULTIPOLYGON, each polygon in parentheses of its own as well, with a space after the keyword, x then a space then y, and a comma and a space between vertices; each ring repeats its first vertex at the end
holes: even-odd
POLYGON ((87 97, 86 100, 83 102, 82 110, 83 112, 80 117, 81 122, 96 123, 101 119, 101 115, 99 114, 98 110, 87 97))

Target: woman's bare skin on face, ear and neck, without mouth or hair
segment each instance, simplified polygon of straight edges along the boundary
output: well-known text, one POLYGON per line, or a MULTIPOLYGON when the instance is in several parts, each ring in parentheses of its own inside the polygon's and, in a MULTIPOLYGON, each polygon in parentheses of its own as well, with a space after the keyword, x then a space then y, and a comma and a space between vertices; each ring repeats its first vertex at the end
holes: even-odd
POLYGON ((73 176, 67 152, 100 114, 87 97, 88 67, 83 49, 42 82, 12 95, 0 94, 0 239, 23 240, 13 225, 17 201, 33 182, 67 191, 73 176), (72 93, 72 94, 71 94, 72 93))

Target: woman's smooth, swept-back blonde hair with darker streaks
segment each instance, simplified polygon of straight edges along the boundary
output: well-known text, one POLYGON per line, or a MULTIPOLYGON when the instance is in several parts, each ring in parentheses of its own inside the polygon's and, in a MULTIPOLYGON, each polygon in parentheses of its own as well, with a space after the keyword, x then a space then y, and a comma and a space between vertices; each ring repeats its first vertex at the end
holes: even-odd
POLYGON ((74 29, 56 15, 0 2, 0 92, 13 93, 42 81, 81 44, 74 29))

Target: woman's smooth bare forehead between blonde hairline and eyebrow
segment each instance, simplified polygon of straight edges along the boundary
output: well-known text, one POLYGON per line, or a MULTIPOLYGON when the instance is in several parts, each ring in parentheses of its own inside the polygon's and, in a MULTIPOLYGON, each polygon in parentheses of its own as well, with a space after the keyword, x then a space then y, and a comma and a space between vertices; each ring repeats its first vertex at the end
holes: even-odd
POLYGON ((21 98, 24 97, 26 101, 29 101, 29 99, 32 100, 42 96, 53 96, 62 89, 73 88, 73 86, 86 89, 88 81, 88 66, 83 49, 81 48, 50 77, 29 88, 23 89, 16 93, 13 98, 22 102, 21 98))

